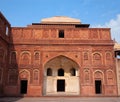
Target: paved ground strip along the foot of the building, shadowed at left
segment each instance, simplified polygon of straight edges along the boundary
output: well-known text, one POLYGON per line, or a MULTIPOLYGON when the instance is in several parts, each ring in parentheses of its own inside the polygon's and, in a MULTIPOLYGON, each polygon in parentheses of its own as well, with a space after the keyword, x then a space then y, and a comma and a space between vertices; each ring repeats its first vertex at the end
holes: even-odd
POLYGON ((0 97, 0 102, 120 102, 120 97, 0 97))

